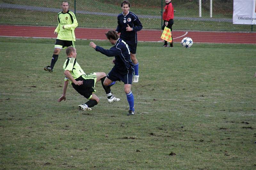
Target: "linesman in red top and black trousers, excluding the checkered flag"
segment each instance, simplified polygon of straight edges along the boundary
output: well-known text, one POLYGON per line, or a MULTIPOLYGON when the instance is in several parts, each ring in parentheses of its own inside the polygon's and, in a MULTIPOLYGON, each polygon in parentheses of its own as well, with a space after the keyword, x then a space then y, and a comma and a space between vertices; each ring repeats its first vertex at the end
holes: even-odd
MULTIPOLYGON (((164 13, 163 13, 163 20, 164 25, 162 26, 162 30, 164 30, 164 27, 170 28, 172 31, 172 25, 173 25, 173 18, 174 18, 174 8, 172 5, 172 0, 165 0, 165 7, 164 7, 164 13)), ((167 41, 164 41, 163 47, 173 47, 173 43, 170 43, 170 46, 167 45, 167 41)))

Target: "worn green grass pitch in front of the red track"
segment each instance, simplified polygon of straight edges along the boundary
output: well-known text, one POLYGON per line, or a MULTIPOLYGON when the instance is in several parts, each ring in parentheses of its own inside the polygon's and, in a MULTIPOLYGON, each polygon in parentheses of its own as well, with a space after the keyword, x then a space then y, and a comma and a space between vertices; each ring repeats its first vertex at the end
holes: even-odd
MULTIPOLYGON (((139 42, 140 82, 132 84, 134 116, 123 83, 92 111, 71 85, 61 96, 66 59, 54 72, 55 39, 0 40, 0 169, 255 169, 255 45, 193 44, 162 48, 139 42)), ((95 41, 110 48, 108 41, 95 41)), ((78 40, 86 73, 108 71, 106 57, 78 40)))

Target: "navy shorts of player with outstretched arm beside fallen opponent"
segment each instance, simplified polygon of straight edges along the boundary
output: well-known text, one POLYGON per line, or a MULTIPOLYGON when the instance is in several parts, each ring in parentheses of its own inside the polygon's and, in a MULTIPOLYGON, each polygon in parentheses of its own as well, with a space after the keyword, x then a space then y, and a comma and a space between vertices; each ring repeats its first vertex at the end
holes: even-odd
POLYGON ((108 73, 107 78, 112 81, 122 81, 124 84, 132 84, 133 71, 125 74, 119 73, 114 67, 108 73))

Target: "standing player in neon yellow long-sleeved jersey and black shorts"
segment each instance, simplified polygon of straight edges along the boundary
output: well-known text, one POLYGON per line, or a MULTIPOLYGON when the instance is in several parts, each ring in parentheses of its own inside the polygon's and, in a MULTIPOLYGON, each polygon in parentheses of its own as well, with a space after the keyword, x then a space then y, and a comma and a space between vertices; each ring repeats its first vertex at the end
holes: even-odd
POLYGON ((58 26, 54 30, 54 34, 58 36, 54 46, 52 62, 50 66, 44 67, 44 70, 49 72, 53 71, 53 67, 58 60, 62 48, 69 46, 75 47, 75 28, 78 26, 78 23, 75 14, 69 11, 68 7, 67 1, 61 3, 62 11, 58 13, 58 26))

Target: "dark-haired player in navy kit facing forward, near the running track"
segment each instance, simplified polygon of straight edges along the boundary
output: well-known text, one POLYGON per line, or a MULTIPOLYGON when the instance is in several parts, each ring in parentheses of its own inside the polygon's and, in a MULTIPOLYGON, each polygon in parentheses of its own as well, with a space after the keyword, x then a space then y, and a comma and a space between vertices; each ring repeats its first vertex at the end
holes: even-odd
POLYGON ((130 48, 131 60, 134 64, 134 80, 139 81, 139 62, 136 59, 137 49, 137 32, 142 29, 140 19, 130 10, 131 4, 129 1, 123 1, 121 4, 123 12, 117 16, 116 32, 121 33, 120 38, 124 40, 130 48))

